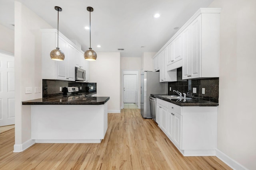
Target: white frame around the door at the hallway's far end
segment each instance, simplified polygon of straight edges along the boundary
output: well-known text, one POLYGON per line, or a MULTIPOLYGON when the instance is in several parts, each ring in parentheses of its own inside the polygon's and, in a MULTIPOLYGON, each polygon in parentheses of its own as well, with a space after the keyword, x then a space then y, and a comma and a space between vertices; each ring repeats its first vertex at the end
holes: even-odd
POLYGON ((138 108, 140 109, 140 70, 122 70, 122 80, 121 80, 121 109, 124 108, 124 74, 136 74, 137 81, 136 81, 136 91, 138 91, 137 96, 135 96, 135 100, 137 98, 138 101, 138 108))

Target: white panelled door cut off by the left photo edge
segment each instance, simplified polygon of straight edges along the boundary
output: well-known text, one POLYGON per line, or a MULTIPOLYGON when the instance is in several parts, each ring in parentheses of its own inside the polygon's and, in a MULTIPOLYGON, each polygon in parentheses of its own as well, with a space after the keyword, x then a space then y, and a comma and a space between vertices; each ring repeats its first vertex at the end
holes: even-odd
POLYGON ((14 121, 14 57, 0 53, 0 126, 14 121))

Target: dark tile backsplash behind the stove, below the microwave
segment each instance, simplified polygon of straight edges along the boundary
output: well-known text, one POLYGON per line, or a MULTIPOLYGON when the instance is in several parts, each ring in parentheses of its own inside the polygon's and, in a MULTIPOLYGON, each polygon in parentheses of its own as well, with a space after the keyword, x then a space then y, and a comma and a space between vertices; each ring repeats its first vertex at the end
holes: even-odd
POLYGON ((43 79, 43 98, 48 96, 61 95, 60 87, 74 86, 79 88, 79 92, 96 92, 97 83, 84 83, 84 82, 69 82, 61 80, 46 80, 43 79), (80 87, 82 89, 80 90, 80 87))

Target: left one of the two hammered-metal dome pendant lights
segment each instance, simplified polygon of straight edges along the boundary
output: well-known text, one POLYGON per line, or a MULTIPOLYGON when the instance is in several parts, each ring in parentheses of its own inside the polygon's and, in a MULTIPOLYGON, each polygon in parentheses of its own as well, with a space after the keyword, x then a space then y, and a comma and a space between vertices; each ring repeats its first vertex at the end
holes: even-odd
POLYGON ((58 40, 57 40, 57 48, 52 50, 50 53, 50 57, 52 60, 63 61, 65 59, 64 53, 59 48, 59 11, 62 11, 62 8, 55 6, 54 9, 58 11, 58 40))

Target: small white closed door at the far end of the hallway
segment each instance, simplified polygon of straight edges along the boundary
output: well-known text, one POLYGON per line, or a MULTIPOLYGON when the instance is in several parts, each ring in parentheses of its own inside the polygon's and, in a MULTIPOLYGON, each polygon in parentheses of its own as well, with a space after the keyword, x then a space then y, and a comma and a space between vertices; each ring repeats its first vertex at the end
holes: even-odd
POLYGON ((124 103, 135 103, 137 75, 124 74, 124 103))

